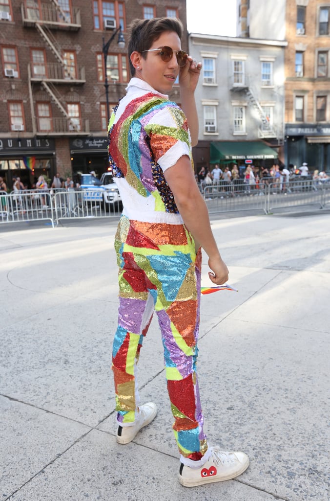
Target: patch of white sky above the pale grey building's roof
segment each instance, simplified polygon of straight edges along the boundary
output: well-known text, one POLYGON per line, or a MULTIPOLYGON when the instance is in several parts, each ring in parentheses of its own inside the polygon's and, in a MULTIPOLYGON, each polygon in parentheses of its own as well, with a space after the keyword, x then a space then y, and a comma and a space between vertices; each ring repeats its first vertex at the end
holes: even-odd
POLYGON ((189 33, 236 36, 236 0, 186 0, 189 33))

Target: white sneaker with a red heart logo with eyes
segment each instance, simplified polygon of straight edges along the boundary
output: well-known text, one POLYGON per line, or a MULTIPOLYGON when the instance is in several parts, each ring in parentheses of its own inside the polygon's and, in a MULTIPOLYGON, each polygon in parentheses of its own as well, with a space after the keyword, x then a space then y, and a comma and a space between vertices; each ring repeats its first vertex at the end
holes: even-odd
POLYGON ((249 461, 244 452, 225 452, 210 447, 211 456, 200 468, 190 468, 181 463, 178 480, 185 487, 230 480, 246 470, 249 461))

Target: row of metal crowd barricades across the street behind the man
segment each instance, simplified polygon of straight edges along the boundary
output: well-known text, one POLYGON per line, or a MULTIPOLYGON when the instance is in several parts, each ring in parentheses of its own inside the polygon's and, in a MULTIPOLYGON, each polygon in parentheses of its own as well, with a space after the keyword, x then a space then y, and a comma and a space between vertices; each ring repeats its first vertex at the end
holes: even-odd
MULTIPOLYGON (((290 180, 246 184, 240 179, 200 184, 209 213, 258 210, 270 214, 284 207, 330 204, 330 182, 290 180)), ((0 191, 0 223, 118 217, 121 202, 110 202, 101 189, 0 191)))

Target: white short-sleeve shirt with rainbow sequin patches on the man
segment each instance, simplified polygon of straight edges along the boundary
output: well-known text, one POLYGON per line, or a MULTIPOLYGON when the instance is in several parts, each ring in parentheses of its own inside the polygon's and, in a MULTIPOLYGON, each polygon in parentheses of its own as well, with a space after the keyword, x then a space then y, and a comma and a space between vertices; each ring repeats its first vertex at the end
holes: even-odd
POLYGON ((180 107, 132 78, 109 123, 109 161, 129 219, 181 224, 164 172, 187 155, 191 141, 180 107))

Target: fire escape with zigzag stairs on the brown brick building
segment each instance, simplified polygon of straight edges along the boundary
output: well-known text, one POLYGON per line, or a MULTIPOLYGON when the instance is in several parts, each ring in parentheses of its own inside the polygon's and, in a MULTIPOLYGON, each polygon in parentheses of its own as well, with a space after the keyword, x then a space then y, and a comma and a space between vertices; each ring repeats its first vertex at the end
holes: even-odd
MULTIPOLYGON (((84 68, 78 70, 77 76, 75 67, 67 66, 62 57, 62 50, 58 44, 53 31, 78 31, 81 27, 79 9, 73 9, 71 13, 64 12, 57 0, 50 0, 48 4, 41 4, 40 8, 21 6, 21 15, 25 27, 34 28, 52 52, 56 63, 47 63, 42 71, 34 71, 28 65, 29 94, 32 111, 33 133, 44 135, 48 132, 51 135, 87 135, 89 133, 88 120, 82 121, 79 117, 69 116, 66 109, 64 97, 58 90, 58 86, 76 86, 85 83, 84 68), (49 95, 50 101, 59 110, 60 116, 39 120, 35 116, 33 105, 33 83, 39 83, 41 88, 49 95), (46 124, 46 126, 45 126, 46 124), (49 130, 45 130, 47 127, 49 130)), ((57 113, 58 114, 58 113, 57 113)))

